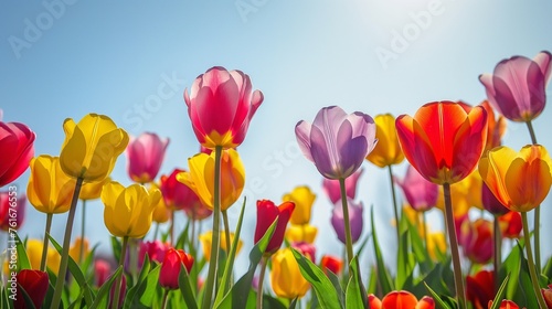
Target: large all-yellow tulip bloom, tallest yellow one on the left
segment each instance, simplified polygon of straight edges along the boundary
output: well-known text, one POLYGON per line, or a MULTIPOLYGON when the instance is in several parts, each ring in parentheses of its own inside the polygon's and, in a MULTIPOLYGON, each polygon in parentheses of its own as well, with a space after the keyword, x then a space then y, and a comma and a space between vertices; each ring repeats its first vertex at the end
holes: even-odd
POLYGON ((112 172, 128 145, 128 134, 107 116, 88 114, 75 124, 63 122, 65 141, 60 154, 62 170, 85 182, 102 181, 112 172))

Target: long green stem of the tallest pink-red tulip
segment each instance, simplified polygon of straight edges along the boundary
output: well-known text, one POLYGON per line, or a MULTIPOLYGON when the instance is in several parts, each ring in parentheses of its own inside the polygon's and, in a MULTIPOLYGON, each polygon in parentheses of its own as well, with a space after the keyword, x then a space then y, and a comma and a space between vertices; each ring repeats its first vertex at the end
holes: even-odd
POLYGON ((216 275, 216 266, 219 262, 220 248, 220 225, 221 225, 221 154, 222 147, 214 148, 214 192, 213 192, 213 238, 211 243, 211 256, 209 258, 209 271, 205 281, 205 290, 203 295, 202 308, 210 309, 214 295, 214 281, 216 275))

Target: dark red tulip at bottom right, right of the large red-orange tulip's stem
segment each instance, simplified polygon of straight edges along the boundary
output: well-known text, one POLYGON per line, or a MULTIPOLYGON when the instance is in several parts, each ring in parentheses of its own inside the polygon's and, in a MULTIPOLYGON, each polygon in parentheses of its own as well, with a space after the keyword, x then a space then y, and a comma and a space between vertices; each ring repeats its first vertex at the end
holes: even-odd
POLYGON ((495 275, 489 270, 479 270, 466 278, 466 294, 474 309, 485 309, 489 300, 495 299, 495 275))

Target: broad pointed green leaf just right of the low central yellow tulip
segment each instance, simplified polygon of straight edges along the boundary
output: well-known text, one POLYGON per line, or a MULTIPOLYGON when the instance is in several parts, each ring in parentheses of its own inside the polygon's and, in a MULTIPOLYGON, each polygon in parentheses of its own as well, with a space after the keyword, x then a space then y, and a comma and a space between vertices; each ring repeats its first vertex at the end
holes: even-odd
MULTIPOLYGON (((295 259, 299 264, 299 269, 302 277, 310 283, 315 289, 316 296, 321 308, 343 308, 339 302, 339 296, 333 288, 330 279, 326 277, 322 269, 316 266, 310 259, 306 258, 302 254, 291 248, 295 259)), ((361 307, 359 307, 361 308, 361 307)))

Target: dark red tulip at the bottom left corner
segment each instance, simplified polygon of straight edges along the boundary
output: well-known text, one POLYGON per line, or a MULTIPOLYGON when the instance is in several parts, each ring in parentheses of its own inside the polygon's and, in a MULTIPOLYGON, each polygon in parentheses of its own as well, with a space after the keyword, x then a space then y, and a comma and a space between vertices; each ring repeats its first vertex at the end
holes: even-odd
POLYGON ((47 273, 21 269, 17 275, 18 292, 13 301, 14 308, 28 308, 23 290, 32 300, 35 308, 42 308, 42 302, 46 297, 49 279, 47 273))

